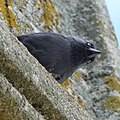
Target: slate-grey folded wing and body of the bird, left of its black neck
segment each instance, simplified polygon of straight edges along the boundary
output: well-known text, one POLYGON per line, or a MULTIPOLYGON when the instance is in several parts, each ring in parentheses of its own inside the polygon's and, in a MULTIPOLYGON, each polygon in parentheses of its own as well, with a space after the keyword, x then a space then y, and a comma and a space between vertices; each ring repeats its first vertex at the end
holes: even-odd
POLYGON ((54 33, 18 36, 29 52, 49 71, 62 76, 70 67, 70 42, 54 33))

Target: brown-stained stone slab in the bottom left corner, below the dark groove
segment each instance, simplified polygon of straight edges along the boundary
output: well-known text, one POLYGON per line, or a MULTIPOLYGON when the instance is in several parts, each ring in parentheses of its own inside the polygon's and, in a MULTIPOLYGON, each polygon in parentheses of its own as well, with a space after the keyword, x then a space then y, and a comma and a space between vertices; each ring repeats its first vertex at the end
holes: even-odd
POLYGON ((2 74, 0 74, 0 119, 45 120, 2 74))

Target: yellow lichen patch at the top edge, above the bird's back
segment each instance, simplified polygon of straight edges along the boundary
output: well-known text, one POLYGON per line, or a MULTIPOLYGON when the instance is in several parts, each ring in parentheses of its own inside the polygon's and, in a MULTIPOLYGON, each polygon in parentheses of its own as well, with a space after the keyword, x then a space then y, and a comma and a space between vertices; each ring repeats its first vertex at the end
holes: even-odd
POLYGON ((43 9, 41 19, 46 27, 51 29, 52 26, 55 26, 58 30, 59 14, 55 9, 52 0, 39 0, 37 5, 40 9, 43 9))

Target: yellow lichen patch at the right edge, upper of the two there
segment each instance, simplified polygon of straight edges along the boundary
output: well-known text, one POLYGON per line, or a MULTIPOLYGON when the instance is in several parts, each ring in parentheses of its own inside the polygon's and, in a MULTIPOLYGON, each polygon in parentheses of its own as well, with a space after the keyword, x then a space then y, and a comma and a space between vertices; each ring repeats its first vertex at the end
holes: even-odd
POLYGON ((120 83, 115 77, 106 77, 104 79, 105 83, 109 86, 110 89, 116 90, 120 93, 120 83))

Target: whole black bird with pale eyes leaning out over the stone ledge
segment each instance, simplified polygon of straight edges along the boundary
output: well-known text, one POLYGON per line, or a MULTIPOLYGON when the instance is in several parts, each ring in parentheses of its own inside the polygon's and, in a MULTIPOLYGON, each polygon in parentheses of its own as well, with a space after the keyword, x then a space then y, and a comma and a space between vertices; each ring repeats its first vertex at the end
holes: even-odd
POLYGON ((81 38, 65 37, 55 33, 34 33, 18 36, 28 51, 62 83, 84 63, 94 61, 94 45, 81 38))

